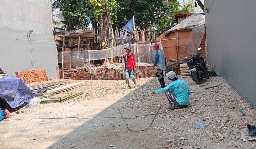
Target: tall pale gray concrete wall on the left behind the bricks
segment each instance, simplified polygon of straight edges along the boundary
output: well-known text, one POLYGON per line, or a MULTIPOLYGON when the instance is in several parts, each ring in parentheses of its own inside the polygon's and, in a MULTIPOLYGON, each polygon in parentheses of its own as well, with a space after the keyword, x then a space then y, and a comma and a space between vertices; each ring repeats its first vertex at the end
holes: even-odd
POLYGON ((58 61, 52 31, 51 0, 0 2, 0 68, 12 76, 16 71, 45 69, 49 78, 55 78, 58 61), (30 35, 32 48, 27 40, 30 30, 33 30, 30 35))

